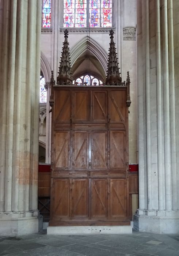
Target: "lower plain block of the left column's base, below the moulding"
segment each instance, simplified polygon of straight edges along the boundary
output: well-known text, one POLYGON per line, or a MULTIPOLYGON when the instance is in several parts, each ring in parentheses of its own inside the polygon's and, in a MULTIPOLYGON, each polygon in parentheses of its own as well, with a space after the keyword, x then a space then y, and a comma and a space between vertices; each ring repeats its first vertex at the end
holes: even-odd
POLYGON ((19 218, 0 220, 0 236, 21 236, 38 233, 39 218, 19 218))

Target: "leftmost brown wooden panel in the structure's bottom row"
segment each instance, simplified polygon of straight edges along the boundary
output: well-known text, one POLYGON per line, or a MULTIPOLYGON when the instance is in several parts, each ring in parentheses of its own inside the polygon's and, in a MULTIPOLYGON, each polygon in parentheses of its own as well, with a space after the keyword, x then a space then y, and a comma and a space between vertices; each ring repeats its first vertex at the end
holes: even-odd
POLYGON ((69 180, 54 180, 53 187, 53 215, 69 218, 69 180))

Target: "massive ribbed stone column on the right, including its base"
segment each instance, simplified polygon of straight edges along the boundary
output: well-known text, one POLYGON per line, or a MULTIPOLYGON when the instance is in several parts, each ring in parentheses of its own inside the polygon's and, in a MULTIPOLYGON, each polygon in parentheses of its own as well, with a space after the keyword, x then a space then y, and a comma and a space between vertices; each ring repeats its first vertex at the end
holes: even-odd
POLYGON ((134 227, 153 233, 179 232, 173 2, 137 0, 139 209, 134 227))

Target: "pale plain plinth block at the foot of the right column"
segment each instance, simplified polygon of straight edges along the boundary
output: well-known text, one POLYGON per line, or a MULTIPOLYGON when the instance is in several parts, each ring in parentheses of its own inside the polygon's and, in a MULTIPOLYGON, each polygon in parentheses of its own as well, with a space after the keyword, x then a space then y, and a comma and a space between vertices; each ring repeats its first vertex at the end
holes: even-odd
POLYGON ((134 215, 134 229, 157 234, 179 233, 179 217, 134 215))

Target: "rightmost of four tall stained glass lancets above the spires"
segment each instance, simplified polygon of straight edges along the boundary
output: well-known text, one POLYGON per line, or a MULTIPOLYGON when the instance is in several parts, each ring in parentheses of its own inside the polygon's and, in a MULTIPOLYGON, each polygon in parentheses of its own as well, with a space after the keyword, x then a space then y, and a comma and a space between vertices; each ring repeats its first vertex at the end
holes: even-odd
POLYGON ((101 26, 112 27, 112 1, 101 1, 101 26))

